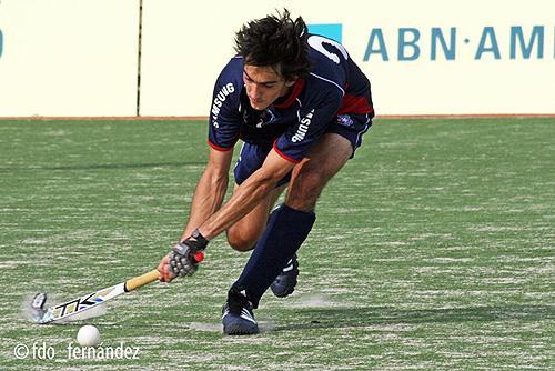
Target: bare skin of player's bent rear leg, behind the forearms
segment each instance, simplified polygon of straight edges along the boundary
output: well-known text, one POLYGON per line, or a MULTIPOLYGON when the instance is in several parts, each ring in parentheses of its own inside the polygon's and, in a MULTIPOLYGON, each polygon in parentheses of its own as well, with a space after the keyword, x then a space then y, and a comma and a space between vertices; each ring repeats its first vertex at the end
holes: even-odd
MULTIPOLYGON (((235 184, 235 189, 238 187, 235 184)), ((266 228, 270 212, 286 187, 287 184, 283 184, 275 188, 250 213, 228 230, 228 242, 233 249, 238 251, 254 249, 254 245, 266 228)))

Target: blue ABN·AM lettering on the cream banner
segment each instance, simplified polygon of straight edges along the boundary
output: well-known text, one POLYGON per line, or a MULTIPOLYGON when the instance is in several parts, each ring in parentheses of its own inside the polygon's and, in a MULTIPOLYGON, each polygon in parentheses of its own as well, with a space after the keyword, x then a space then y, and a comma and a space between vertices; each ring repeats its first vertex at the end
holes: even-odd
MULTIPOLYGON (((400 28, 397 30, 398 33, 396 40, 397 60, 418 60, 423 58, 422 52, 425 47, 430 48, 428 56, 431 61, 438 59, 447 61, 456 60, 457 49, 460 48, 460 44, 457 44, 458 40, 464 42, 463 48, 468 48, 465 46, 473 44, 471 40, 464 36, 461 39, 457 39, 460 33, 457 31, 456 27, 451 27, 448 29, 433 27, 430 29, 430 32, 416 28, 400 28), (431 42, 423 46, 422 39, 427 39, 431 42)), ((524 60, 544 58, 546 43, 544 26, 534 26, 532 31, 524 31, 522 26, 513 26, 509 29, 504 29, 503 31, 509 37, 505 39, 509 40, 508 44, 506 44, 506 42, 504 44, 500 44, 497 41, 497 34, 501 32, 498 29, 495 29, 492 26, 484 27, 482 29, 480 40, 474 40, 474 46, 476 46, 476 49, 474 49, 474 60, 482 60, 483 58, 501 60, 503 57, 508 57, 511 59, 522 58, 524 60), (502 51, 504 52, 502 53, 502 51)), ((387 34, 384 33, 383 29, 372 29, 363 61, 367 62, 371 58, 390 61, 387 48, 392 47, 391 42, 393 40, 386 37, 387 34)), ((553 56, 555 58, 555 44, 553 56)))

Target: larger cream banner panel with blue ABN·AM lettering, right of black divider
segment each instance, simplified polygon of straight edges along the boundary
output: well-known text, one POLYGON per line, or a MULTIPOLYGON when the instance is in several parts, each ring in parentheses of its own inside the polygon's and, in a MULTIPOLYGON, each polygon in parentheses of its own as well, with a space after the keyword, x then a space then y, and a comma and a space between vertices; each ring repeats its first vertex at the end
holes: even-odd
POLYGON ((145 0, 141 113, 208 116, 234 32, 284 7, 345 46, 377 116, 555 113, 552 0, 145 0))

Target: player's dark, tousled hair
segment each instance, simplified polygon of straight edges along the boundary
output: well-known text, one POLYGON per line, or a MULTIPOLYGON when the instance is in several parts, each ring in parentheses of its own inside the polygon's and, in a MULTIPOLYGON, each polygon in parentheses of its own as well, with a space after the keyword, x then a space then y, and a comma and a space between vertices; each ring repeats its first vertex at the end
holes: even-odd
POLYGON ((235 51, 243 64, 271 67, 285 81, 307 76, 312 69, 306 37, 309 28, 299 17, 291 19, 287 9, 243 24, 235 33, 235 51))

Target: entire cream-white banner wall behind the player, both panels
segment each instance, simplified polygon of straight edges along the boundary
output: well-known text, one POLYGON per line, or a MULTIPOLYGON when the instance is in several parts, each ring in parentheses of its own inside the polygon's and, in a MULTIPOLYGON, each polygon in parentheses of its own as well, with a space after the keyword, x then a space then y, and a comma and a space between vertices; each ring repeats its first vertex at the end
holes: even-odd
MULTIPOLYGON (((234 32, 284 7, 341 28, 379 116, 555 114, 553 0, 143 0, 140 114, 208 116, 234 32)), ((139 0, 2 0, 0 117, 134 116, 138 26, 139 0)))

